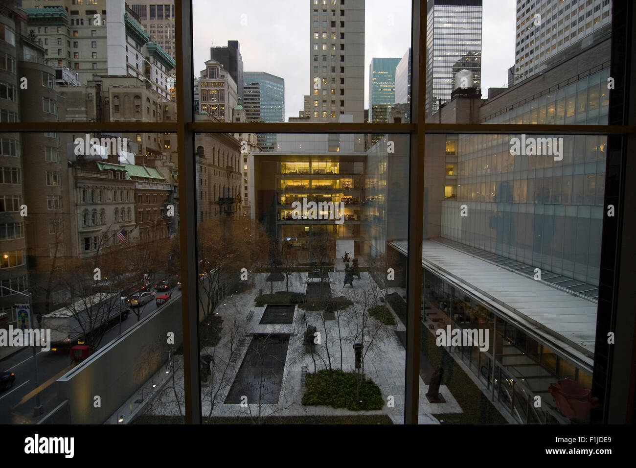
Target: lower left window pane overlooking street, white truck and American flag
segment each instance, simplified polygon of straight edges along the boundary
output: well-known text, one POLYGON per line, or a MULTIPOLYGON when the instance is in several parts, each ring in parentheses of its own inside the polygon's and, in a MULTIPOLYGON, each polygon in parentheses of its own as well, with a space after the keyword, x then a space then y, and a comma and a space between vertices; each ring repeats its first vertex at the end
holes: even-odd
MULTIPOLYGON (((52 412, 45 422, 155 422, 173 373, 183 388, 176 150, 142 159, 125 142, 134 137, 0 134, 0 329, 50 332, 35 338, 38 378, 31 349, 0 346, 16 378, 0 399, 1 423, 52 412), (137 194, 152 196, 137 203, 137 194), (137 218, 137 208, 152 216, 137 218), (29 294, 32 315, 22 305, 29 294), (131 414, 141 404, 146 414, 131 414)), ((160 137, 177 147, 174 135, 160 137)), ((183 422, 174 408, 170 422, 183 422)))

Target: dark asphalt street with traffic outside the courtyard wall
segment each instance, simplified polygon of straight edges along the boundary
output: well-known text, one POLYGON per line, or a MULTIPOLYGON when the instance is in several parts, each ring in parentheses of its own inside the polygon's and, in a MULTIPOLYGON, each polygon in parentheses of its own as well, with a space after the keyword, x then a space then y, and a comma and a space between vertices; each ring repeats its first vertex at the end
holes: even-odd
MULTIPOLYGON (((155 297, 166 294, 163 291, 153 290, 153 292, 155 297)), ((175 301, 178 297, 181 297, 181 291, 174 288, 171 300, 175 301)), ((150 315, 155 310, 155 301, 148 302, 141 308, 140 318, 150 315)), ((98 349, 111 343, 121 333, 136 324, 137 315, 133 312, 128 314, 127 320, 121 323, 113 322, 102 337, 98 349)), ((36 359, 38 360, 38 386, 36 386, 32 348, 24 348, 0 361, 0 371, 10 371, 15 374, 13 386, 9 390, 0 392, 0 424, 37 423, 62 402, 51 384, 71 369, 69 351, 41 351, 38 348, 36 359), (39 416, 34 416, 38 393, 36 388, 39 388, 40 402, 43 406, 43 413, 39 416)))

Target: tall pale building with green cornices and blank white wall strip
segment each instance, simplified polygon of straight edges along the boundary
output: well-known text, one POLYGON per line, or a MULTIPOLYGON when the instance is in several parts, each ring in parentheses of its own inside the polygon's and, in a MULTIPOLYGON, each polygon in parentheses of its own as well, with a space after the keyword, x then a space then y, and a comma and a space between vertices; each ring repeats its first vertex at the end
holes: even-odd
POLYGON ((23 7, 29 32, 44 48, 49 66, 71 69, 81 84, 106 74, 135 76, 170 99, 174 59, 151 40, 141 18, 123 0, 107 5, 104 0, 54 0, 46 5, 25 0, 23 7))

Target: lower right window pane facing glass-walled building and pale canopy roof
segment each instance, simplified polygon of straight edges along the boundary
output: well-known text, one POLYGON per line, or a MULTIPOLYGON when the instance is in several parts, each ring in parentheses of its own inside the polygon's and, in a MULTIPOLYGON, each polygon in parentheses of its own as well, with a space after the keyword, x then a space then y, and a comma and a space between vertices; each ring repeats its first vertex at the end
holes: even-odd
POLYGON ((604 216, 595 190, 605 165, 577 175, 584 165, 577 154, 605 159, 606 141, 427 136, 420 358, 428 385, 438 381, 441 364, 446 402, 420 397, 420 411, 445 423, 589 418, 591 406, 572 416, 554 395, 567 385, 563 378, 591 389, 585 376, 593 369, 604 216), (443 152, 446 168, 436 162, 443 152), (539 323, 541 337, 528 323, 539 323))

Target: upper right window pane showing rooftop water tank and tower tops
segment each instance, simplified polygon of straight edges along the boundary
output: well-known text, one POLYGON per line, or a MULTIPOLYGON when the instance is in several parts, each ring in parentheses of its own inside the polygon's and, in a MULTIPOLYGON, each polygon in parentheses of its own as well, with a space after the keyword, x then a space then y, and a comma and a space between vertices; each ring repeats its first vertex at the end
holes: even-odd
POLYGON ((427 122, 607 124, 611 2, 583 31, 576 2, 452 3, 427 15, 427 122))

